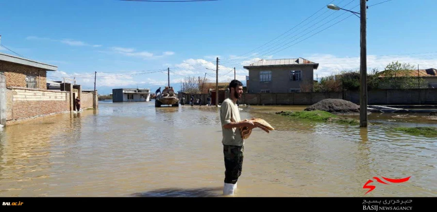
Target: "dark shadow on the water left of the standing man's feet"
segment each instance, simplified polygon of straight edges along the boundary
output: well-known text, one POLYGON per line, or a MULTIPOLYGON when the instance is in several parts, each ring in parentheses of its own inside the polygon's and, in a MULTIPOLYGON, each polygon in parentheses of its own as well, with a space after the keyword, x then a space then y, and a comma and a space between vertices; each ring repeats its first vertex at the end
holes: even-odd
POLYGON ((133 197, 218 197, 222 196, 223 187, 205 187, 195 189, 164 188, 147 192, 134 193, 133 197))

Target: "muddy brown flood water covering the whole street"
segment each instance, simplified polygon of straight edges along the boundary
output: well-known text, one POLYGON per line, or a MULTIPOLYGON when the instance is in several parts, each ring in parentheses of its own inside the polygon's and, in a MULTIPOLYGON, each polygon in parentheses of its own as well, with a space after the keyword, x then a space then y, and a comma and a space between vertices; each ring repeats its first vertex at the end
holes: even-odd
MULTIPOLYGON (((276 130, 245 140, 235 196, 437 196, 436 138, 393 130, 437 120, 370 114, 377 123, 360 129, 273 113, 304 108, 241 106, 276 130), (388 184, 373 179, 365 195, 373 177, 388 184)), ((100 101, 1 129, 0 196, 221 196, 221 136, 214 106, 100 101)))

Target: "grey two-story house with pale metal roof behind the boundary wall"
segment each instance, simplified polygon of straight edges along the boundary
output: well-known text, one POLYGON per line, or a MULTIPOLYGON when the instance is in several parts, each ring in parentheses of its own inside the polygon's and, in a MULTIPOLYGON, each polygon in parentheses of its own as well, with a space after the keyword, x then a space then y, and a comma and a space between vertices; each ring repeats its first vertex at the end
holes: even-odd
POLYGON ((304 83, 312 86, 319 64, 303 58, 263 59, 243 67, 249 70, 248 93, 296 93, 304 83))

